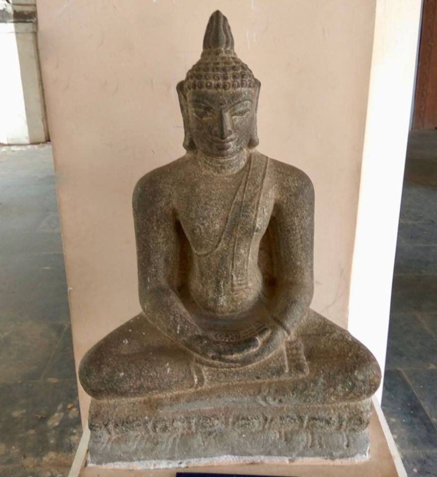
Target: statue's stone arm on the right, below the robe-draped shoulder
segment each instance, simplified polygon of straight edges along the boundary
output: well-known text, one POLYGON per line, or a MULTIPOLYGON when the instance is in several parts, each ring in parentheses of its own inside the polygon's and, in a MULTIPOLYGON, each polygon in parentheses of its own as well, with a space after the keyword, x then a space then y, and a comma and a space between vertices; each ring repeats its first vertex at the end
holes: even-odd
POLYGON ((295 190, 278 201, 273 220, 278 289, 272 318, 288 335, 307 314, 314 291, 314 188, 300 174, 295 190))

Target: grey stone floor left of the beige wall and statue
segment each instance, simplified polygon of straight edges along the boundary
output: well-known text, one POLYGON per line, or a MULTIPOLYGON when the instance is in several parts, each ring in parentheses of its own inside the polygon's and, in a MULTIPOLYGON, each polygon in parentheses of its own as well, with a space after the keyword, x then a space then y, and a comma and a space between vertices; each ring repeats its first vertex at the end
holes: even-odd
POLYGON ((0 148, 0 476, 66 476, 80 438, 50 145, 0 148))

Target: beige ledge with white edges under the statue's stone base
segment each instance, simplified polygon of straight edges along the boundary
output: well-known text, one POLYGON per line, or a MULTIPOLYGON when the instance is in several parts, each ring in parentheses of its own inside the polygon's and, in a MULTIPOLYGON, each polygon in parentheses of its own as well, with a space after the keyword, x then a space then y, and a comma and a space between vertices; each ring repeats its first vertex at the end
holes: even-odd
POLYGON ((173 477, 176 472, 246 474, 293 477, 407 477, 379 404, 374 400, 370 422, 370 459, 363 462, 296 461, 289 464, 250 464, 183 469, 114 469, 87 466, 89 431, 83 433, 69 477, 173 477))

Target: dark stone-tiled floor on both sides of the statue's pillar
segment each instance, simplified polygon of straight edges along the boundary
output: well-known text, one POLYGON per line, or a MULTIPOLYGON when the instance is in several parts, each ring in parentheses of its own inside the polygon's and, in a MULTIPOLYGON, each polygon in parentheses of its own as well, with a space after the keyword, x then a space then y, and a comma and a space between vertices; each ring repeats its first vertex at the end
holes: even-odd
MULTIPOLYGON (((0 476, 66 476, 80 437, 49 145, 0 149, 0 476)), ((409 476, 437 476, 437 131, 410 137, 383 409, 409 476)))

